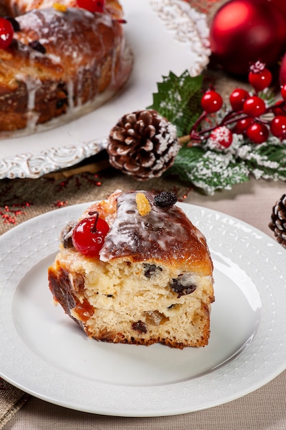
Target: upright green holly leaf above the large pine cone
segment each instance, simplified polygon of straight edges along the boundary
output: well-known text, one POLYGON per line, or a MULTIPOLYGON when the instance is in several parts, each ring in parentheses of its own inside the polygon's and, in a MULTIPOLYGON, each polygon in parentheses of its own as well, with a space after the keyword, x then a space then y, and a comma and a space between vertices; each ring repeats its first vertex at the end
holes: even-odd
POLYGON ((174 124, 178 137, 188 135, 202 111, 202 76, 191 77, 188 71, 181 76, 170 72, 157 87, 158 93, 153 93, 153 104, 147 109, 154 109, 174 124))

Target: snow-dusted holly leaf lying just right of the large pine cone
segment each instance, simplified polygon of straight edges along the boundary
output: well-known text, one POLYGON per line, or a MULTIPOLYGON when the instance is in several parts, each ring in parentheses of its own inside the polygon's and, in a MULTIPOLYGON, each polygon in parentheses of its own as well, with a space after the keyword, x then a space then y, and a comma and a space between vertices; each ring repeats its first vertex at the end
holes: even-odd
POLYGON ((250 173, 246 163, 237 161, 232 153, 204 150, 200 146, 182 147, 167 172, 191 181, 207 194, 231 190, 233 185, 248 181, 250 173))

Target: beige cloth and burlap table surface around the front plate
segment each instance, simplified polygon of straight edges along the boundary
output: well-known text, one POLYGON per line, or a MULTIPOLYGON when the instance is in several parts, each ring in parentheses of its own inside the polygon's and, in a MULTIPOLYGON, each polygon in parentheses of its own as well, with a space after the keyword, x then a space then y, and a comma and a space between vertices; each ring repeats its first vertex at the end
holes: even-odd
MULTIPOLYGON (((216 0, 193 0, 191 3, 196 8, 204 5, 204 12, 208 12, 216 0)), ((228 83, 225 78, 223 83, 228 83)), ((286 187, 282 182, 251 179, 247 183, 235 185, 233 190, 208 196, 173 178, 148 181, 143 186, 110 169, 98 176, 84 172, 60 179, 3 179, 0 181, 0 234, 33 216, 57 210, 58 207, 105 199, 118 188, 124 191, 141 188, 174 191, 180 201, 235 216, 274 238, 268 223, 272 207, 285 193, 286 187)), ((255 392, 224 405, 190 414, 155 418, 86 414, 38 398, 28 398, 15 390, 7 385, 2 386, 0 380, 0 429, 286 429, 286 371, 255 392)))

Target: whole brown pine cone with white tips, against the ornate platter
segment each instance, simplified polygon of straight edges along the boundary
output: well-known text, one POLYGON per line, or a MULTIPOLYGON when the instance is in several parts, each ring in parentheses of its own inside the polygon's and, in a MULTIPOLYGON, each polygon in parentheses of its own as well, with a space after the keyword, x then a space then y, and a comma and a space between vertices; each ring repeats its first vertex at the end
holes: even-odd
POLYGON ((110 131, 111 166, 138 181, 160 177, 178 154, 176 127, 150 109, 124 115, 110 131))

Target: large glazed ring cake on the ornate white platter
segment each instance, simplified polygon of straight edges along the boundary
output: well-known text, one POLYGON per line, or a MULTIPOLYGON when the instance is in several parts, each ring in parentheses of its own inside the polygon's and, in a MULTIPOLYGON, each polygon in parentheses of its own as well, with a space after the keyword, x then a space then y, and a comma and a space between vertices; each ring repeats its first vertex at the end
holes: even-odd
POLYGON ((0 19, 0 132, 29 134, 80 117, 130 76, 119 3, 106 0, 102 12, 74 3, 4 1, 10 16, 0 19))

